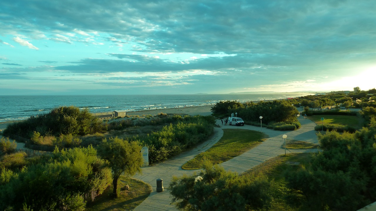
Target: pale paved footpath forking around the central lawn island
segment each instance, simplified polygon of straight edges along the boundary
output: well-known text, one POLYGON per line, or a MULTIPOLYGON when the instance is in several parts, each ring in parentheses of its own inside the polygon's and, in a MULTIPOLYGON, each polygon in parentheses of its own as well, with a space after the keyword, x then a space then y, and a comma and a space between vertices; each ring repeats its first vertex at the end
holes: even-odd
MULTIPOLYGON (((231 160, 228 160, 220 165, 224 169, 243 173, 250 168, 253 168, 260 163, 265 162, 268 159, 276 157, 281 154, 285 154, 285 149, 282 148, 284 139, 282 135, 286 134, 286 140, 296 140, 296 141, 306 141, 312 144, 318 144, 318 139, 316 137, 316 132, 314 131, 315 123, 308 119, 300 119, 300 124, 302 125, 300 129, 294 131, 275 131, 267 128, 262 128, 262 132, 269 136, 264 142, 262 142, 257 147, 247 151, 246 153, 235 157, 231 160)), ((223 135, 223 130, 226 128, 238 128, 238 129, 247 129, 247 130, 256 130, 261 131, 261 127, 245 125, 243 127, 235 126, 224 126, 221 125, 221 121, 217 120, 217 124, 221 127, 214 128, 214 135, 208 141, 198 145, 196 148, 190 151, 186 151, 178 156, 173 157, 172 159, 167 160, 166 162, 159 163, 155 166, 147 166, 142 168, 142 174, 135 175, 134 178, 143 180, 146 183, 149 183, 153 192, 150 193, 149 197, 145 199, 134 211, 178 211, 174 205, 171 205, 172 197, 170 195, 167 187, 169 186, 172 177, 181 177, 182 175, 191 175, 195 171, 200 170, 184 170, 181 166, 186 163, 188 160, 193 159, 197 154, 208 150, 212 145, 214 145, 223 135), (163 180, 163 192, 156 192, 156 179, 161 178, 163 180)), ((314 150, 288 150, 286 153, 292 152, 314 152, 314 150)))

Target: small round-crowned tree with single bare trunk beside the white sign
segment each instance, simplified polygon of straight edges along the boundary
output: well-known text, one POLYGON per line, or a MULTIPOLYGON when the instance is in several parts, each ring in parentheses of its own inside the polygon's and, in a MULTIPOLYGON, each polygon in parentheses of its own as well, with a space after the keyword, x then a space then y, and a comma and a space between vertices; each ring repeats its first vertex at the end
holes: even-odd
POLYGON ((132 176, 141 172, 143 158, 141 146, 136 141, 129 142, 118 137, 103 139, 98 147, 98 154, 108 161, 112 169, 113 196, 117 197, 117 183, 121 174, 132 176))

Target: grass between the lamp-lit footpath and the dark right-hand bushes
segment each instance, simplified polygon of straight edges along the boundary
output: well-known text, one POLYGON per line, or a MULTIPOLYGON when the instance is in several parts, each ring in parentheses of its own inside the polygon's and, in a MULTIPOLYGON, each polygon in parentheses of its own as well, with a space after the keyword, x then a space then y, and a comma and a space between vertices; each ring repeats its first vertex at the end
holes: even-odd
POLYGON ((309 208, 307 208, 304 204, 305 197, 299 192, 288 189, 287 182, 284 178, 284 173, 285 171, 297 169, 299 167, 298 165, 307 165, 310 158, 310 153, 290 153, 286 156, 281 155, 255 166, 254 168, 245 172, 243 176, 249 177, 250 174, 265 174, 269 180, 272 181, 272 186, 268 190, 268 195, 271 198, 271 204, 266 210, 309 210, 309 208), (299 162, 299 164, 290 164, 295 162, 299 162))

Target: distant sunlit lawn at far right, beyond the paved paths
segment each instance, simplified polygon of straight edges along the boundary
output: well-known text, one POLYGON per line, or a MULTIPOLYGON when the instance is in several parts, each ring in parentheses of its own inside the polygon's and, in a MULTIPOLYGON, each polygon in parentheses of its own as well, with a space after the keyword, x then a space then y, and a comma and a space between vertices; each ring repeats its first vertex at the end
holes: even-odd
POLYGON ((358 116, 347 116, 347 115, 313 115, 308 118, 314 121, 316 124, 321 125, 321 117, 324 118, 324 123, 330 124, 343 124, 356 129, 361 129, 362 120, 358 116))

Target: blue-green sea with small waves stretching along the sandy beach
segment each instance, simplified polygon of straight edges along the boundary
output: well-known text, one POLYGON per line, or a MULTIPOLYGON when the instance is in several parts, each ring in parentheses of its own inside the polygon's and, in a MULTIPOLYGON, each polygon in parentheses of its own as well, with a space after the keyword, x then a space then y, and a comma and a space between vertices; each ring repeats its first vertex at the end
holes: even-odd
POLYGON ((237 100, 287 99, 312 93, 252 93, 252 94, 169 94, 169 95, 40 95, 0 96, 0 122, 26 120, 30 116, 49 113, 61 106, 88 108, 90 112, 141 111, 176 108, 177 106, 215 105, 217 102, 237 100))

